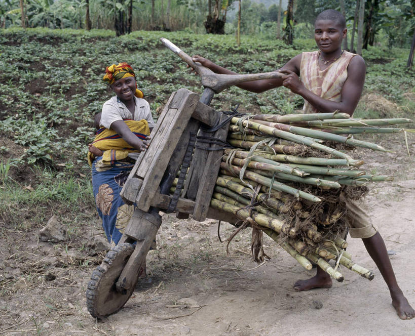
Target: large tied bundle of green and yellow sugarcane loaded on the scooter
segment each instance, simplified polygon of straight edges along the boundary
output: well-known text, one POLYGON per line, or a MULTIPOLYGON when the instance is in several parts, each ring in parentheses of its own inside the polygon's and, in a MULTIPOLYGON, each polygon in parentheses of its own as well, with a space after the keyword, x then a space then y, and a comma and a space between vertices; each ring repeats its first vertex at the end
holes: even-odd
MULTIPOLYGON (((358 199, 366 183, 392 181, 371 175, 353 158, 356 147, 388 151, 350 134, 394 133, 406 118, 353 119, 345 113, 254 115, 234 117, 216 180, 211 207, 232 213, 276 240, 300 265, 316 263, 343 281, 339 264, 371 280, 373 273, 356 265, 346 252, 346 207, 341 194, 358 199), (348 136, 345 136, 347 135, 348 136), (331 267, 327 260, 336 260, 331 267)), ((261 247, 252 242, 254 259, 261 247)))

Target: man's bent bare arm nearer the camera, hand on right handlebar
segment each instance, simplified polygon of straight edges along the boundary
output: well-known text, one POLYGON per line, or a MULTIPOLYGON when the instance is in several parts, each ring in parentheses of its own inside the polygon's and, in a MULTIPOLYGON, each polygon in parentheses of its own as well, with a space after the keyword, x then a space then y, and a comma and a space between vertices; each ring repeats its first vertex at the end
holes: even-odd
POLYGON ((312 93, 310 90, 307 90, 303 83, 300 82, 296 73, 291 71, 281 72, 287 74, 287 78, 283 81, 283 86, 303 97, 318 111, 334 112, 335 110, 339 110, 340 112, 352 115, 363 91, 366 66, 363 58, 359 55, 350 60, 347 68, 348 76, 343 85, 339 102, 323 99, 312 93))

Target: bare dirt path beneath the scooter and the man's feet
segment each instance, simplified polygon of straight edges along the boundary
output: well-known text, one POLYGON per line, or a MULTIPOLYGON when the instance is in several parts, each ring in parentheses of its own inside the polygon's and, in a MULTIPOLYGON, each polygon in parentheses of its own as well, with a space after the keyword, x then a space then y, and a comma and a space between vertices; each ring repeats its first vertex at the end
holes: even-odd
MULTIPOLYGON (((391 143, 385 142, 390 148, 391 143)), ((397 144, 403 147, 401 139, 397 144)), ((409 146, 415 153, 415 141, 409 146)), ((395 176, 394 182, 372 186, 367 200, 398 282, 415 305, 414 163, 404 149, 365 152, 365 157, 388 163, 368 163, 366 169, 395 176)), ((223 224, 220 234, 228 237, 231 231, 230 225, 223 224)), ((84 238, 95 234, 100 234, 96 221, 94 227, 86 226, 84 238)), ((374 271, 372 281, 343 269, 343 283, 297 292, 294 281, 314 271, 305 271, 275 242, 266 240, 266 253, 272 259, 257 267, 250 258, 248 230, 234 239, 227 256, 217 239, 215 221, 180 221, 165 215, 141 289, 119 313, 97 322, 85 305, 86 285, 96 267, 83 264, 85 251, 39 242, 36 232, 27 233, 20 248, 13 238, 7 231, 0 237, 0 277, 4 277, 0 279, 0 335, 415 334, 415 319, 401 321, 396 316, 387 287, 359 239, 348 240, 348 251, 355 262, 374 271), (37 265, 49 266, 36 271, 37 265), (48 281, 48 272, 56 279, 48 281)), ((89 259, 99 263, 100 258, 89 259)))

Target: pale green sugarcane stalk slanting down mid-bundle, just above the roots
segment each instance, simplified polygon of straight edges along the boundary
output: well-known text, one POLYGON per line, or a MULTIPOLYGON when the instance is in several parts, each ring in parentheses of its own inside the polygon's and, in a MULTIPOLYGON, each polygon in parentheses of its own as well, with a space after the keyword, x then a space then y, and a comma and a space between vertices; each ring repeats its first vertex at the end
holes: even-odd
MULTIPOLYGON (((229 166, 227 163, 225 162, 220 162, 220 167, 223 171, 227 172, 228 174, 235 174, 236 173, 240 173, 241 172, 241 168, 237 167, 235 165, 229 166)), ((254 172, 250 172, 250 171, 245 171, 245 177, 248 180, 254 181, 254 182, 258 182, 259 184, 263 184, 266 186, 271 186, 271 188, 279 190, 279 191, 284 191, 288 194, 294 195, 295 197, 301 197, 304 199, 308 199, 310 201, 313 202, 320 202, 321 199, 318 198, 317 196, 314 196, 312 194, 309 194, 307 192, 295 189, 293 187, 287 186, 286 184, 283 184, 281 182, 278 181, 273 181, 270 178, 267 178, 265 176, 256 174, 254 172)))

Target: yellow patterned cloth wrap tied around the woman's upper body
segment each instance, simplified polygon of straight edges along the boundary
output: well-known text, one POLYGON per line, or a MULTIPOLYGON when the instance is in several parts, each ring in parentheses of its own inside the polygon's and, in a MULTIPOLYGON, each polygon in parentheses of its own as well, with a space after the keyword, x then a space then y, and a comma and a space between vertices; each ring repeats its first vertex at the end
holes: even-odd
MULTIPOLYGON (((150 134, 147 120, 124 120, 128 128, 133 133, 140 133, 145 136, 150 134)), ((117 132, 113 130, 104 129, 95 136, 92 145, 103 151, 102 158, 97 162, 98 167, 110 168, 114 161, 125 159, 129 153, 137 152, 137 149, 132 148, 123 138, 119 137, 117 132)), ((92 161, 95 155, 88 152, 88 164, 92 166, 92 161)))

